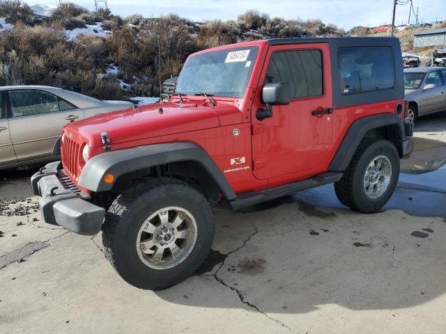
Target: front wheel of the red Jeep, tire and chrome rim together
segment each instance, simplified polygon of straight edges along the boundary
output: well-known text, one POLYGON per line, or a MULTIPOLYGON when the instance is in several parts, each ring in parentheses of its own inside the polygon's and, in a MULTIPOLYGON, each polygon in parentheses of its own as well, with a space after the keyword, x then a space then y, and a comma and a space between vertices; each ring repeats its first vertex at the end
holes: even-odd
POLYGON ((165 289, 191 276, 213 244, 206 198, 192 186, 154 179, 124 191, 105 217, 105 254, 119 275, 141 289, 165 289))

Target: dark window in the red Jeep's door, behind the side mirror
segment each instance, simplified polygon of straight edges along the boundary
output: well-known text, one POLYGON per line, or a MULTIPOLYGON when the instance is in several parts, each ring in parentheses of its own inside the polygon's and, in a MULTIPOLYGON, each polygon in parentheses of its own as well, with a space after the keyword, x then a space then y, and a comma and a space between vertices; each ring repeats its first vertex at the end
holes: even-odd
POLYGON ((323 94, 320 50, 278 51, 272 54, 265 84, 289 82, 291 99, 323 94))

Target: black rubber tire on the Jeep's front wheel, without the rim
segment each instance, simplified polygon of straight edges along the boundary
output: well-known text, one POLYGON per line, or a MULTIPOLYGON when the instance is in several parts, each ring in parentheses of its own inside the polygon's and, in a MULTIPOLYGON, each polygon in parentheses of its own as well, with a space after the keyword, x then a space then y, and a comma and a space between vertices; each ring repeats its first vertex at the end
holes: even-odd
POLYGON ((191 276, 206 259, 213 244, 215 222, 208 200, 179 180, 152 179, 125 190, 109 207, 102 229, 104 253, 119 275, 134 287, 159 290, 191 276), (190 254, 176 267, 153 269, 140 259, 139 229, 153 212, 164 207, 187 209, 197 223, 197 240, 190 254))

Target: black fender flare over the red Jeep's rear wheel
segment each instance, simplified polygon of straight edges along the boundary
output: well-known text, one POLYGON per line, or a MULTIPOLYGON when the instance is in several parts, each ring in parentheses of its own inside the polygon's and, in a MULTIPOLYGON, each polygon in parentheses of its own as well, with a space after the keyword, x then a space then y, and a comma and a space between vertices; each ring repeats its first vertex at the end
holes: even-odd
POLYGON ((337 172, 346 170, 357 147, 367 132, 388 126, 393 126, 396 129, 396 132, 393 133, 393 138, 396 141, 394 144, 397 146, 400 158, 406 156, 408 151, 411 151, 411 141, 410 138, 406 138, 403 120, 393 113, 380 113, 373 116, 366 116, 353 122, 344 136, 341 145, 339 145, 336 154, 334 154, 328 170, 337 172))

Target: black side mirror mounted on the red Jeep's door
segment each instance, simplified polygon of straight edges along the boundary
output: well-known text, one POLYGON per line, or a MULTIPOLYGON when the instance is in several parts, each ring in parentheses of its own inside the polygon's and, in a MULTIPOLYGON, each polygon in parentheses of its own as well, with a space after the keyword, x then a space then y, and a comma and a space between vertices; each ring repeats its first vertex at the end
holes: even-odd
POLYGON ((256 111, 256 118, 264 120, 272 117, 272 106, 290 104, 290 84, 289 82, 266 84, 262 88, 261 100, 266 104, 266 110, 256 111))

